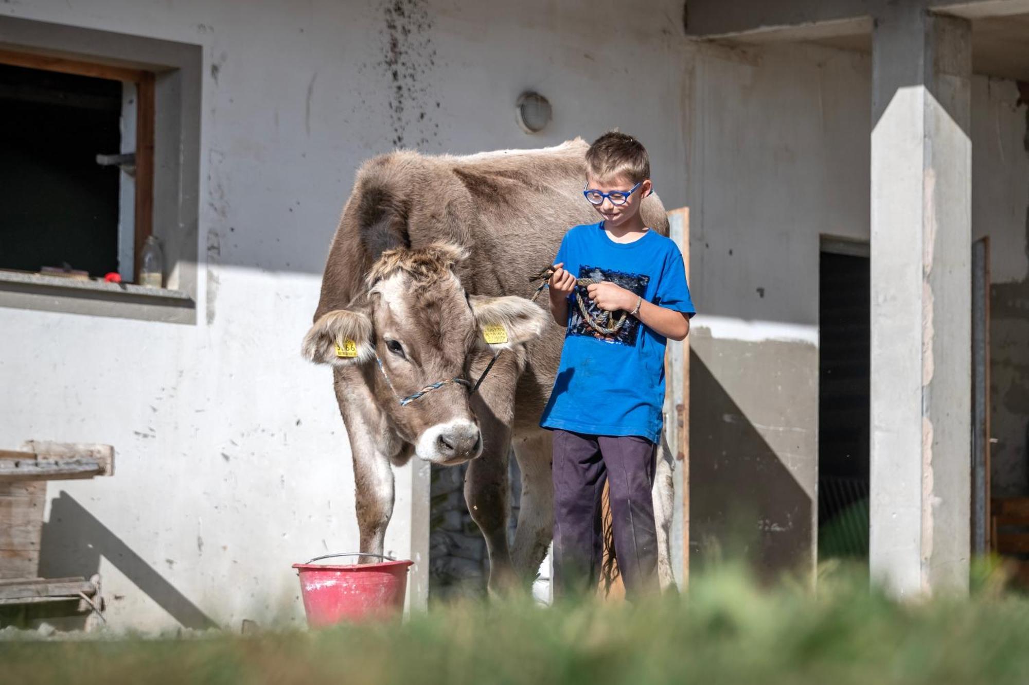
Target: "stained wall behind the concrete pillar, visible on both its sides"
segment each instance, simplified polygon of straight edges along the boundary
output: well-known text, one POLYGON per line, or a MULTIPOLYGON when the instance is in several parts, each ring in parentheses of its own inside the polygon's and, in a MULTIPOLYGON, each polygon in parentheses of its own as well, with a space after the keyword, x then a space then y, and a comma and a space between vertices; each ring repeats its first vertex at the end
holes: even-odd
MULTIPOLYGON (((821 236, 868 240, 871 61, 702 45, 691 61, 691 558, 811 568, 821 236)), ((993 263, 995 494, 1026 492, 1027 106, 975 76, 972 230, 993 263)))

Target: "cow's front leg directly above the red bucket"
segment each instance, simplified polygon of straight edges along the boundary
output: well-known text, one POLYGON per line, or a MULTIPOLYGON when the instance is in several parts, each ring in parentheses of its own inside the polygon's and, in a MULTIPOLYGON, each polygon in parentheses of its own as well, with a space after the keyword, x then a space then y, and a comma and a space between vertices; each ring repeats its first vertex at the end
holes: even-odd
MULTIPOLYGON (((375 397, 356 369, 335 369, 335 396, 347 426, 354 460, 354 495, 360 551, 382 554, 386 527, 393 515, 393 469, 390 458, 402 443, 379 410, 375 397)), ((361 557, 361 563, 380 562, 361 557)))

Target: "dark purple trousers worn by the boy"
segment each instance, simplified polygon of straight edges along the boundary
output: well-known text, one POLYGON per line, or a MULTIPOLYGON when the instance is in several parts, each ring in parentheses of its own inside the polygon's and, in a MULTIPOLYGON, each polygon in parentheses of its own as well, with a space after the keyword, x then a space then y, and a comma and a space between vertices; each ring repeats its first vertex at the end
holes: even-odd
POLYGON ((636 436, 554 431, 554 590, 584 596, 603 558, 601 502, 609 483, 614 551, 630 600, 658 589, 653 442, 636 436))

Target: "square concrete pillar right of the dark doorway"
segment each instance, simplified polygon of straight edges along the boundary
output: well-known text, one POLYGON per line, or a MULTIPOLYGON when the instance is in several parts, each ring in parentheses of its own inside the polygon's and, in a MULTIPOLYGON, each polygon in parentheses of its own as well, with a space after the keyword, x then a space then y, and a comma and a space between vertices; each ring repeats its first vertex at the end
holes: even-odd
POLYGON ((873 577, 966 591, 971 42, 966 20, 884 3, 873 32, 873 577))

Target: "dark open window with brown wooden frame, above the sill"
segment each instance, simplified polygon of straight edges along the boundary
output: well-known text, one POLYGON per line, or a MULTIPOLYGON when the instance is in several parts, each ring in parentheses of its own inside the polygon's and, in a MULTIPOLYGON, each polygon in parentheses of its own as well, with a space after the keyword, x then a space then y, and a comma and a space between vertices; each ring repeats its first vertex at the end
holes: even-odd
POLYGON ((0 269, 137 280, 153 86, 150 72, 0 50, 0 269))

